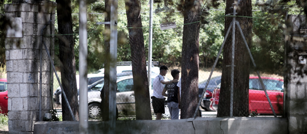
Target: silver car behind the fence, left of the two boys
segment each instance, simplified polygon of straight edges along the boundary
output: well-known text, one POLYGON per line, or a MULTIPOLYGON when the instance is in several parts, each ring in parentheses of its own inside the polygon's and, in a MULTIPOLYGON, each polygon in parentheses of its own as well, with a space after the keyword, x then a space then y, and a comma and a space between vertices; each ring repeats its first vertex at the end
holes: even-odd
MULTIPOLYGON (((152 80, 157 76, 158 74, 152 75, 152 80)), ((165 78, 165 80, 168 80, 165 78)), ((116 93, 116 105, 119 110, 119 112, 122 112, 124 114, 128 115, 134 115, 135 114, 135 99, 134 99, 134 91, 133 91, 133 76, 119 76, 117 77, 117 93, 116 93)), ((95 82, 94 84, 91 84, 88 88, 90 88, 90 92, 88 92, 88 116, 90 118, 98 117, 100 114, 100 91, 102 90, 102 87, 104 85, 104 79, 99 80, 95 82)), ((150 96, 153 94, 153 86, 149 90, 150 96)), ((150 100, 150 103, 152 101, 150 100)), ((151 109, 153 112, 153 108, 151 105, 151 109)), ((162 117, 170 117, 169 110, 167 107, 167 102, 165 102, 165 114, 162 114, 162 117)))

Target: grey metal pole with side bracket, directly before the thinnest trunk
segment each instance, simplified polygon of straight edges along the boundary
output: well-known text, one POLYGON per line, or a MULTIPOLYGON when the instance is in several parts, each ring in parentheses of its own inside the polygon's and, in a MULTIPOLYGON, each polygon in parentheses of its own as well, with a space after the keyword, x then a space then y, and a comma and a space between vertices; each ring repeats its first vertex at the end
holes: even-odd
POLYGON ((110 96, 109 96, 109 134, 115 133, 116 121, 116 61, 117 61, 117 0, 111 0, 110 21, 110 96))

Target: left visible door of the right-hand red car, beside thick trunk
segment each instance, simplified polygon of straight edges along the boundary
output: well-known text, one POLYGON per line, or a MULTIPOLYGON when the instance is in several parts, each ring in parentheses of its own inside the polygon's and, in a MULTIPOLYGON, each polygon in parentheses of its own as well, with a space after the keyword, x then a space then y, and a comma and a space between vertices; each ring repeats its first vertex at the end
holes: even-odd
POLYGON ((249 110, 264 111, 263 90, 259 79, 249 79, 249 110))

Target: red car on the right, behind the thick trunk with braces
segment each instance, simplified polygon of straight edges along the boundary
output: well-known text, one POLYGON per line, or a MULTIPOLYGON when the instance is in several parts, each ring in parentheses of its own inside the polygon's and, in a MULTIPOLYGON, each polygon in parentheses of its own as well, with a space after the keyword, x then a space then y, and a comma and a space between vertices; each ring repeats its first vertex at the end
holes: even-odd
MULTIPOLYGON (((282 114, 284 81, 278 78, 261 77, 276 114, 282 114)), ((220 85, 213 91, 210 108, 217 111, 220 98, 220 85)), ((249 110, 257 110, 257 114, 273 114, 266 94, 262 89, 258 76, 249 79, 249 110)))

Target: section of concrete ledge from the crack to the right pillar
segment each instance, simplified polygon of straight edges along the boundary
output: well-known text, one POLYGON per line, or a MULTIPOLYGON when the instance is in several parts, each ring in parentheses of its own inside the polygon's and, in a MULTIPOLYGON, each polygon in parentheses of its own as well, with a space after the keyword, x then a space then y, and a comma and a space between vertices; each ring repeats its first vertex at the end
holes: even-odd
POLYGON ((206 134, 287 134, 288 119, 274 117, 196 118, 195 133, 206 134))

